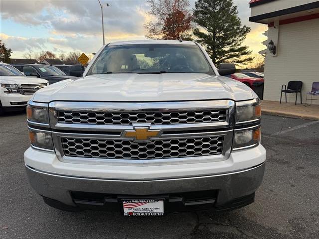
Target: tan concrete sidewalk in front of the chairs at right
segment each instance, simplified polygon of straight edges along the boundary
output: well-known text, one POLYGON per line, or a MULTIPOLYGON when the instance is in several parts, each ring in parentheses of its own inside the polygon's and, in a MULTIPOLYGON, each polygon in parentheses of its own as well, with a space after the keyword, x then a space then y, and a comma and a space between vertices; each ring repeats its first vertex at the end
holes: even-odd
POLYGON ((261 109, 264 114, 319 121, 319 105, 313 104, 307 107, 305 105, 285 102, 279 104, 279 101, 261 101, 261 109))

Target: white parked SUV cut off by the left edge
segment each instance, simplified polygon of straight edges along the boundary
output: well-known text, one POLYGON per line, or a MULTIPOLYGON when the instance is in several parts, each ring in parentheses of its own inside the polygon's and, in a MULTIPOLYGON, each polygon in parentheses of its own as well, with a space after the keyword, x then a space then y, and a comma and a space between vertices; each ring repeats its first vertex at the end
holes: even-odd
POLYGON ((26 109, 34 92, 48 85, 48 81, 23 75, 13 66, 0 63, 0 115, 5 111, 26 109))

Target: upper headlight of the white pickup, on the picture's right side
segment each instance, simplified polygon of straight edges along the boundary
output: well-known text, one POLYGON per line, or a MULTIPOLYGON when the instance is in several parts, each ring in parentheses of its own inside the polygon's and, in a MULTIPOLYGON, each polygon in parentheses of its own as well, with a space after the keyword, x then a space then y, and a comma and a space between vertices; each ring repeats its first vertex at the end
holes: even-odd
POLYGON ((236 103, 236 123, 260 119, 261 106, 258 99, 236 103))

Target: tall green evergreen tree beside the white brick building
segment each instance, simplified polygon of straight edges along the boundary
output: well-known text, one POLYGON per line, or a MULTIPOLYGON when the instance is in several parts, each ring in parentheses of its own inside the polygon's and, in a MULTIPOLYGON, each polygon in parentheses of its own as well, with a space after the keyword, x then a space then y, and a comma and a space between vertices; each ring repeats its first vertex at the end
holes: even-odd
POLYGON ((250 32, 241 26, 237 6, 232 0, 197 0, 194 10, 196 28, 193 34, 201 43, 216 66, 223 62, 242 63, 251 61, 248 46, 242 46, 250 32))

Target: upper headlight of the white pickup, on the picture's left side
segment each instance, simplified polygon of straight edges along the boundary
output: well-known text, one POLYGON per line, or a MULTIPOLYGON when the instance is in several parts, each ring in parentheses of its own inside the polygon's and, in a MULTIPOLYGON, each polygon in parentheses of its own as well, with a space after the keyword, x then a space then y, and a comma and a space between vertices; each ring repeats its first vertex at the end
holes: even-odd
POLYGON ((29 101, 26 114, 30 122, 49 124, 48 104, 29 101))

